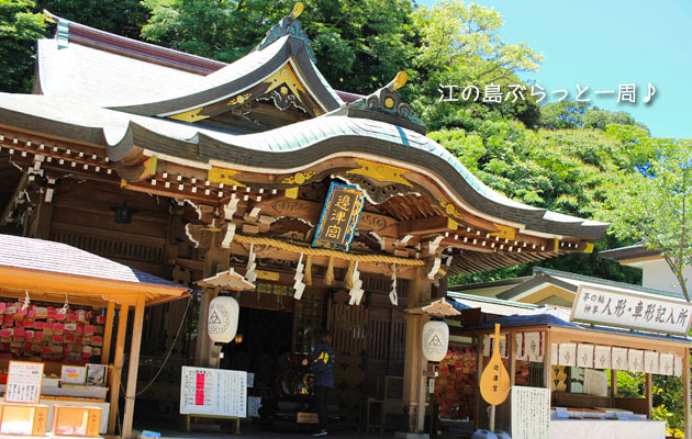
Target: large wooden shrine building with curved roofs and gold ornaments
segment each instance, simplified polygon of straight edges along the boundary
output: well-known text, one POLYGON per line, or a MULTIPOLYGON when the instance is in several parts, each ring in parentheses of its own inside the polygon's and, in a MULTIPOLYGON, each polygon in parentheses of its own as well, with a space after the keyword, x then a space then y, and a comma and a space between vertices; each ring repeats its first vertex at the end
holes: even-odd
POLYGON ((300 12, 227 65, 51 15, 34 92, 0 94, 0 227, 194 289, 189 308, 145 311, 139 381, 171 353, 137 401, 160 413, 177 412, 180 365, 304 357, 326 328, 342 417, 384 392, 421 431, 421 331, 447 277, 590 252, 607 224, 488 188, 426 137, 403 72, 335 90, 300 12), (207 334, 216 295, 241 306, 228 346, 207 334))

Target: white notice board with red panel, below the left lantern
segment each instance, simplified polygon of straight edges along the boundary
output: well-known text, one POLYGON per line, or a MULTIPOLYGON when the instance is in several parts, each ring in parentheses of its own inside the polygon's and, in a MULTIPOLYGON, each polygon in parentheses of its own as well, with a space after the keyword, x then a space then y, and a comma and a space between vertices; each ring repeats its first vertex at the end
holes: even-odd
POLYGON ((180 414, 247 416, 247 372, 182 367, 180 414))

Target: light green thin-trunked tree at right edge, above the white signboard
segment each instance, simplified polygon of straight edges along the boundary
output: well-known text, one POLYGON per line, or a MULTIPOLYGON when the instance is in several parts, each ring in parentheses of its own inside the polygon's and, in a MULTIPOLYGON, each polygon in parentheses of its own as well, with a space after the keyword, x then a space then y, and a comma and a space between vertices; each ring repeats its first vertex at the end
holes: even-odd
POLYGON ((643 172, 624 170, 607 187, 602 216, 610 233, 660 250, 688 302, 683 269, 692 263, 692 140, 661 144, 643 172))

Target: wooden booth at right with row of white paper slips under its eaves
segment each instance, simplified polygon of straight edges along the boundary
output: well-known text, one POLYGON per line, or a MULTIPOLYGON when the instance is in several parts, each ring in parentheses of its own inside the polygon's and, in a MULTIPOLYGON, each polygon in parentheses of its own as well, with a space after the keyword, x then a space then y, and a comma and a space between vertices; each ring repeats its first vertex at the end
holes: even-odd
MULTIPOLYGON (((621 436, 612 437, 663 438, 665 423, 650 421, 654 374, 681 376, 684 404, 690 407, 691 340, 684 336, 690 325, 687 302, 580 288, 571 315, 568 309, 555 307, 536 308, 529 315, 478 318, 476 313, 477 323, 472 324, 468 319, 475 314, 472 311, 461 313, 462 322, 467 317, 462 329, 453 327, 451 330, 453 335, 468 337, 476 345, 476 352, 468 354, 476 360, 475 368, 459 369, 469 375, 467 387, 470 390, 480 381, 492 351, 490 335, 494 325, 500 324, 506 337, 500 350, 511 385, 551 390, 549 402, 544 405, 550 410, 545 437, 578 438, 617 431, 621 436), (637 326, 625 327, 627 317, 633 315, 638 320, 637 326), (609 370, 610 379, 605 372, 609 370), (645 397, 618 396, 615 371, 643 373, 645 397)), ((478 395, 477 384, 476 392, 469 393, 469 401, 471 397, 475 407, 468 407, 467 415, 475 419, 477 428, 487 428, 485 406, 478 395)), ((511 398, 498 406, 496 425, 506 431, 512 431, 516 419, 511 398)), ((444 391, 438 401, 444 402, 444 391)), ((684 437, 690 438, 689 409, 684 420, 684 437)))

